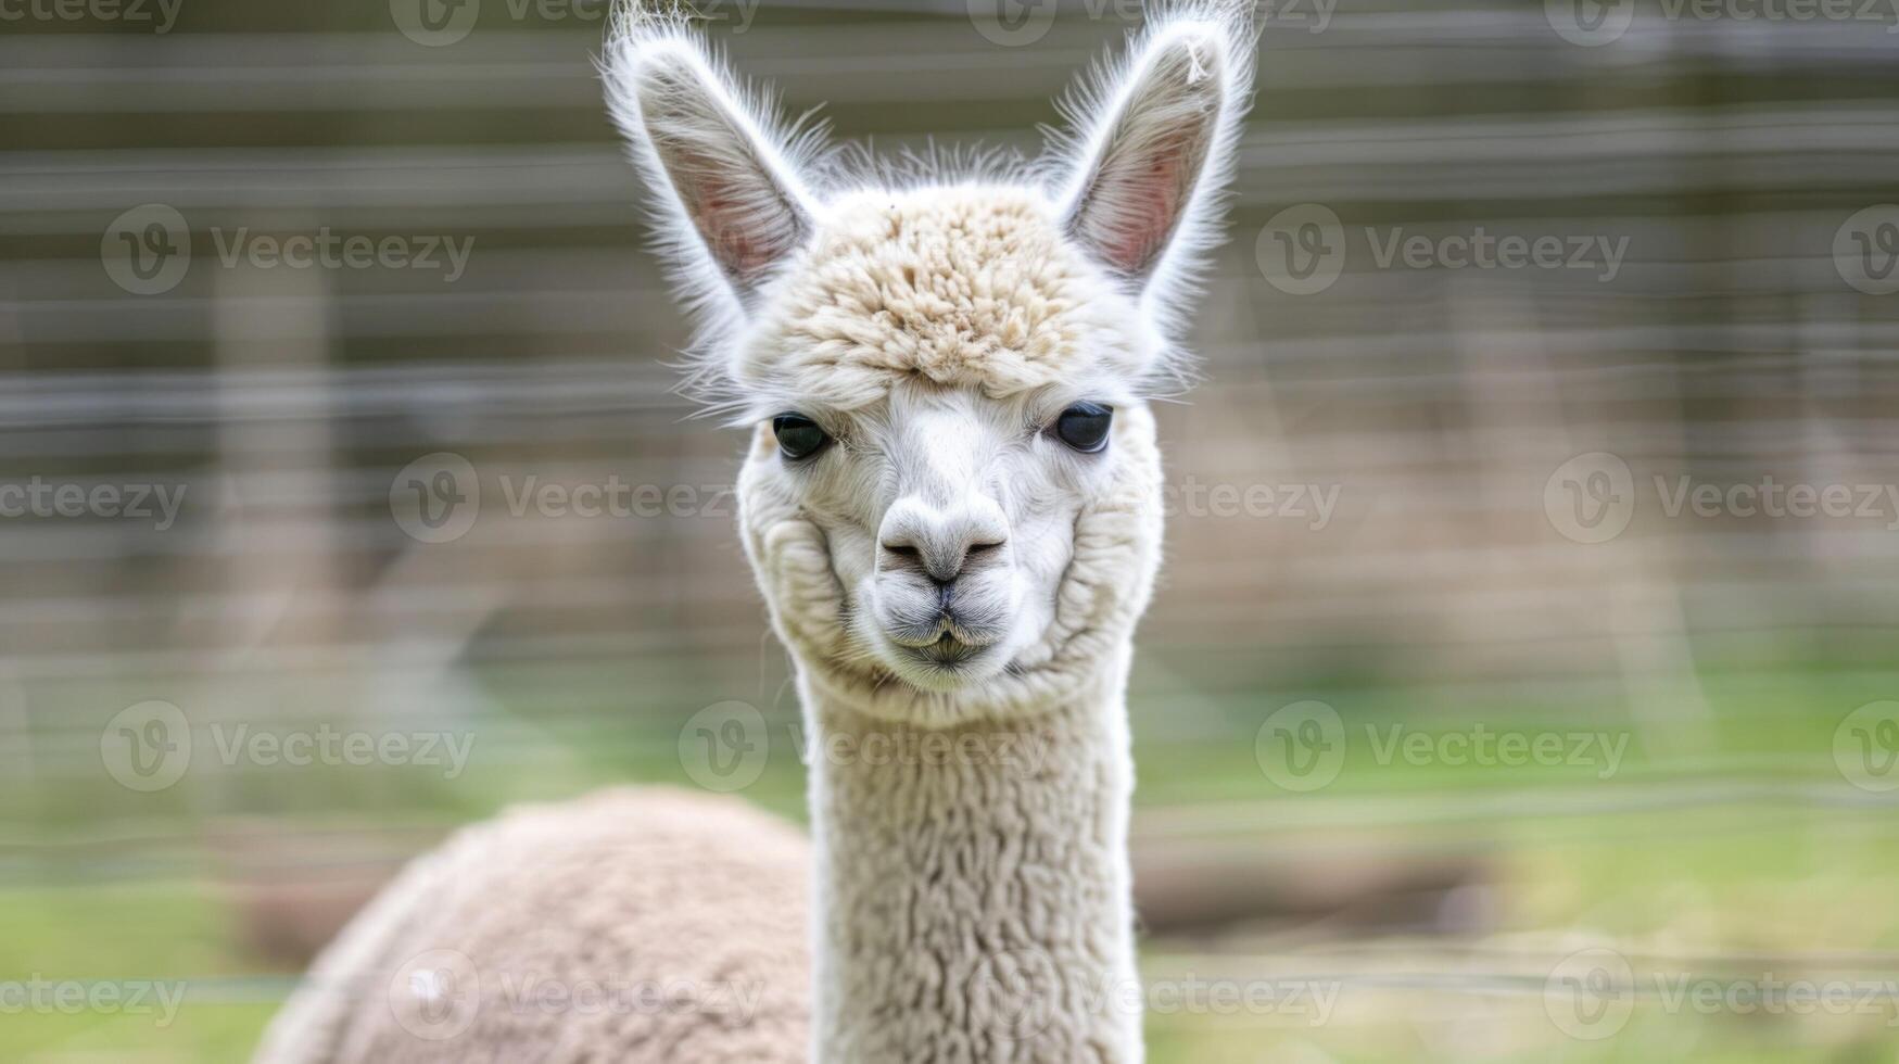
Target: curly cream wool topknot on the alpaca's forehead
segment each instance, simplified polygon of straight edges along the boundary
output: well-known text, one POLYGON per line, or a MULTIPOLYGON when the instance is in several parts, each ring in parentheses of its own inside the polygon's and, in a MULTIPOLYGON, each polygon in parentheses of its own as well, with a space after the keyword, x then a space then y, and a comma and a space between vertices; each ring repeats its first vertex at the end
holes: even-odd
POLYGON ((1158 336, 1096 298, 1105 283, 1031 190, 856 192, 824 209, 735 372, 763 408, 779 399, 760 393, 836 410, 906 378, 991 399, 1134 378, 1147 361, 1134 346, 1158 336))

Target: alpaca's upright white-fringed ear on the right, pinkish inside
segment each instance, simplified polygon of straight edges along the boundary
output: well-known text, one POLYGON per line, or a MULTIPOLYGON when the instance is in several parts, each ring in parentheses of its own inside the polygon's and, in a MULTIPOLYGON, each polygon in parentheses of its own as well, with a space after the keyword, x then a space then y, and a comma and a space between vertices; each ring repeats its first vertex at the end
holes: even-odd
POLYGON ((1168 25, 1136 48, 1119 84, 1101 86, 1081 133, 1067 230, 1117 274, 1145 283, 1225 171, 1244 40, 1221 23, 1168 25))

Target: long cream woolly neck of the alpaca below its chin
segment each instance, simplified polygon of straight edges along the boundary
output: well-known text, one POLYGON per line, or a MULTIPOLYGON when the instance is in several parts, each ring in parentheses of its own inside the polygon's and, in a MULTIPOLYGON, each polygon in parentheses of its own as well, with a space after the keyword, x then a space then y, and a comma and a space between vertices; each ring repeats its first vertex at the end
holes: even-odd
POLYGON ((1138 1062, 1128 652, 1029 716, 921 730, 801 682, 815 1060, 1138 1062))

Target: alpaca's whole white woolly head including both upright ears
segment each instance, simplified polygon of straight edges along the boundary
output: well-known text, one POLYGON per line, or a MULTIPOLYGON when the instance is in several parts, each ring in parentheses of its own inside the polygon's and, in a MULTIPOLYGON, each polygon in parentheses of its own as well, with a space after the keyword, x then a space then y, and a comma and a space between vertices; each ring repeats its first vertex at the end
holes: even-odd
POLYGON ((1145 403, 1183 376, 1250 84, 1232 11, 1174 4, 1044 160, 951 173, 851 167, 676 21, 625 19, 611 112, 663 188, 699 380, 756 426, 746 545, 811 682, 944 724, 1124 652, 1160 540, 1145 403))

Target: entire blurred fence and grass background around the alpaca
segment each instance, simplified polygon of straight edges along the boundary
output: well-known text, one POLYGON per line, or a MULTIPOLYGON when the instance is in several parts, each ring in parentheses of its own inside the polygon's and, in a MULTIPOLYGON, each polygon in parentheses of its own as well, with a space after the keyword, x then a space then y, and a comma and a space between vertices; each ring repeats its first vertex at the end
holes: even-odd
MULTIPOLYGON (((701 8, 879 150, 1139 19, 701 8)), ((803 817, 600 15, 0 4, 0 1058, 243 1060, 513 802, 803 817)), ((1143 977, 1278 996, 1151 1058, 1893 1060, 1899 15, 1261 15, 1130 709, 1143 977)))

